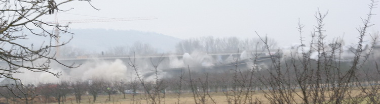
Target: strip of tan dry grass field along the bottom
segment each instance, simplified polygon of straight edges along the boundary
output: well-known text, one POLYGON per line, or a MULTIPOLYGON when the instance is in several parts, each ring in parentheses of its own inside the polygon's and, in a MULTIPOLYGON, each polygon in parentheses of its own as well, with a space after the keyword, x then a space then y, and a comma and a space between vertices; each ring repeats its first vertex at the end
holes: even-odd
MULTIPOLYGON (((299 90, 296 92, 298 94, 300 94, 299 90)), ((361 91, 358 89, 352 90, 351 95, 356 96, 360 92, 361 91)), ((232 92, 230 91, 229 93, 231 94, 232 92)), ((212 99, 214 99, 215 103, 228 103, 227 99, 226 99, 227 97, 223 92, 210 92, 209 94, 212 97, 212 99)), ((244 95, 242 95, 242 96, 244 96, 244 95)), ((325 96, 328 96, 327 92, 326 92, 325 96)), ((232 96, 230 96, 230 98, 231 97, 232 96)), ((133 101, 132 94, 126 94, 126 98, 123 98, 123 94, 112 94, 111 100, 108 100, 107 94, 100 94, 100 95, 98 95, 97 100, 95 102, 93 102, 92 101, 93 100, 92 95, 83 95, 81 103, 93 103, 93 104, 97 104, 97 103, 99 103, 99 104, 100 103, 102 103, 102 104, 105 104, 105 103, 109 103, 109 104, 114 104, 114 103, 120 103, 120 104, 122 104, 122 103, 147 103, 145 98, 147 98, 147 97, 145 97, 144 93, 136 94, 134 101, 133 101)), ((262 103, 269 103, 269 100, 265 98, 264 93, 262 91, 254 92, 254 94, 252 95, 252 98, 257 98, 262 103)), ((328 98, 326 98, 326 99, 328 100, 328 98)), ((206 100, 207 100, 206 101, 207 103, 213 103, 213 101, 208 96, 206 96, 206 100)), ((296 94, 294 94, 294 100, 296 102, 302 102, 301 98, 298 97, 296 94)), ((33 99, 33 102, 31 102, 31 101, 28 101, 28 102, 34 103, 34 104, 45 103, 43 97, 41 97, 41 96, 35 97, 33 99)), ((165 95, 165 98, 162 99, 162 103, 171 104, 171 103, 177 103, 177 102, 178 102, 178 94, 177 93, 167 93, 165 95)), ((0 103, 1 104, 7 103, 7 101, 4 98, 0 98, 0 103)), ((20 99, 15 99, 15 100, 9 99, 8 103, 25 103, 25 102, 20 100, 20 99)), ((53 97, 51 97, 50 104, 57 104, 57 103, 58 103, 57 100, 55 100, 53 97)), ((75 97, 73 95, 67 96, 66 101, 64 101, 64 103, 77 104, 77 102, 75 101, 75 97)), ((189 103, 189 104, 195 103, 193 93, 186 92, 186 93, 181 94, 179 103, 189 103)))

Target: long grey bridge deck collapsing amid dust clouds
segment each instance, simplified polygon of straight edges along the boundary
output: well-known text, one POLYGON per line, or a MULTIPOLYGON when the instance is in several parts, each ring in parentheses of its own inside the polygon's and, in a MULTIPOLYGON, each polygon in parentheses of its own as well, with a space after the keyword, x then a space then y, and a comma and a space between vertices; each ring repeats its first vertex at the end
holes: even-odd
MULTIPOLYGON (((191 53, 187 54, 194 59, 193 61, 199 63, 193 66, 173 66, 171 63, 173 61, 182 61, 186 64, 186 55, 187 53, 177 53, 177 54, 154 54, 154 55, 134 55, 134 56, 80 56, 80 57, 58 57, 57 60, 65 65, 75 64, 85 64, 88 61, 115 61, 122 60, 123 63, 128 69, 131 67, 128 63, 131 61, 137 60, 139 64, 151 64, 161 61, 160 68, 162 72, 167 73, 180 73, 181 70, 191 68, 192 70, 198 71, 228 71, 234 68, 236 65, 239 67, 247 67, 252 66, 252 63, 262 64, 262 63, 270 63, 271 58, 273 57, 281 57, 282 50, 262 50, 262 51, 221 51, 221 52, 212 52, 212 53, 191 53), (172 60, 175 59, 175 60, 172 60), (196 60, 197 59, 197 60, 196 60), (255 60, 255 61, 253 61, 255 60), (207 64, 204 64, 207 62, 207 64)), ((188 58, 187 58, 188 59, 188 58)), ((178 63, 176 62, 176 63, 178 63)), ((179 63, 182 63, 179 62, 179 63)), ((0 65, 7 65, 5 61, 0 61, 0 65)), ((52 66, 59 67, 59 66, 52 66)), ((69 68, 61 66, 62 69, 66 71, 70 71, 69 68)), ((141 68, 141 67, 140 67, 141 68)), ((133 68, 131 68, 133 69, 133 68)), ((151 68, 150 68, 151 69, 151 68)), ((142 69, 144 70, 144 69, 142 69)), ((145 77, 150 76, 152 73, 145 73, 145 77)))

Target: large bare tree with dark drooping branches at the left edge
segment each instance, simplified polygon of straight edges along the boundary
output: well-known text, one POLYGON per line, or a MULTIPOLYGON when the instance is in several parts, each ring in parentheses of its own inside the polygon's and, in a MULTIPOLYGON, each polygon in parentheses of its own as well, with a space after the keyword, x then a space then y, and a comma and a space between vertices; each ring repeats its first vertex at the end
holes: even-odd
MULTIPOLYGON (((79 0, 91 2, 91 0, 79 0)), ((44 15, 50 15, 57 12, 65 12, 68 10, 61 10, 58 7, 61 5, 69 4, 73 1, 55 1, 55 0, 39 0, 39 1, 24 1, 24 0, 6 0, 1 1, 0 4, 0 61, 2 66, 0 76, 21 81, 10 75, 16 73, 23 73, 20 69, 26 69, 32 72, 47 72, 54 76, 59 76, 60 73, 53 73, 49 71, 51 63, 59 63, 56 59, 56 53, 52 49, 67 44, 60 42, 55 44, 59 38, 50 29, 55 28, 56 32, 67 32, 67 24, 48 24, 40 21, 44 15), (45 25, 42 27, 42 25, 45 25), (44 42, 31 42, 29 44, 20 41, 28 41, 44 38, 44 42)), ((90 4, 91 5, 91 4, 90 4)), ((29 41, 30 42, 30 41, 29 41)), ((74 68, 74 65, 64 65, 68 68, 74 68)), ((22 83, 21 83, 22 84, 22 83)), ((24 88, 21 87, 18 88, 24 88)), ((1 86, 4 87, 4 86, 1 86)), ((16 89, 10 89, 16 91, 16 89)), ((2 92, 0 92, 2 93, 2 92)))

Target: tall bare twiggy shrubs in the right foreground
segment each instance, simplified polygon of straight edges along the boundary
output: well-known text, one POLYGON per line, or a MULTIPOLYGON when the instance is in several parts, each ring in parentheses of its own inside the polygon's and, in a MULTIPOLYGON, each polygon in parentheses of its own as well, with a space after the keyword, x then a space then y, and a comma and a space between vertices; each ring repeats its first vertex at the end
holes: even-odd
MULTIPOLYGON (((327 47, 326 34, 324 34, 326 31, 324 19, 327 13, 318 11, 315 15, 317 25, 312 32, 310 50, 301 47, 300 56, 291 55, 284 62, 279 58, 272 58, 272 65, 260 73, 262 77, 258 77, 258 80, 263 85, 260 89, 265 98, 270 103, 377 103, 375 100, 378 98, 377 85, 369 83, 378 81, 373 78, 378 77, 380 73, 371 74, 369 77, 370 74, 364 70, 369 67, 366 66, 366 62, 378 36, 370 35, 373 42, 369 51, 363 49, 366 29, 371 26, 369 21, 375 3, 371 1, 368 5, 370 12, 367 18, 363 19, 363 26, 357 29, 359 31, 357 47, 350 51, 354 57, 348 62, 341 60, 343 40, 335 39, 332 41, 334 45, 327 47), (307 53, 315 54, 314 58, 307 53), (363 74, 367 76, 362 77, 363 74), (297 97, 301 101, 297 101, 297 97)), ((303 25, 299 23, 298 31, 303 45, 302 28, 303 25)), ((261 38, 261 41, 264 44, 268 43, 266 38, 261 38)), ((266 51, 271 51, 269 46, 266 46, 266 51)), ((376 72, 373 69, 378 68, 371 69, 372 72, 376 72)))

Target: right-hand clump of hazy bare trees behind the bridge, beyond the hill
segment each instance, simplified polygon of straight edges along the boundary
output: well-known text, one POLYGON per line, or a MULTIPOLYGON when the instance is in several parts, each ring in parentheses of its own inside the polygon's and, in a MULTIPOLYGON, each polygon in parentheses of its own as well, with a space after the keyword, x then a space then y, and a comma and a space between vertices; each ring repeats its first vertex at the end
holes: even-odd
MULTIPOLYGON (((277 42, 273 38, 268 38, 268 46, 271 49, 277 48, 277 42)), ((199 37, 180 41, 176 44, 177 53, 192 53, 194 51, 218 52, 232 51, 238 49, 255 50, 265 49, 266 45, 259 38, 239 39, 238 37, 199 37)))

